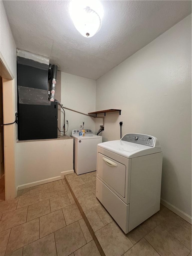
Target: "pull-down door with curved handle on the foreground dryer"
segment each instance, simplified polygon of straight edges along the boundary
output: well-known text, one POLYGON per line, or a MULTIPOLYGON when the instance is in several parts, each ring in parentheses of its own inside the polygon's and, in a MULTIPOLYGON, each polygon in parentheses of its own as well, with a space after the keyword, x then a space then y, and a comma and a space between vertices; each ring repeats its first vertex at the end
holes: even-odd
POLYGON ((125 164, 98 153, 98 176, 108 187, 125 198, 125 164))

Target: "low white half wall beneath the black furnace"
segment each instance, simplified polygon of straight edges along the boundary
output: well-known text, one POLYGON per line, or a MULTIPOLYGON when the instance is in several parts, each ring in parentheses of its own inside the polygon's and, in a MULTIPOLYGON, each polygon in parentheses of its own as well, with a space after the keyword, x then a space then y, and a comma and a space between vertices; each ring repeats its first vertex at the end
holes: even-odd
POLYGON ((62 179, 73 172, 73 139, 18 141, 17 168, 19 188, 62 179))

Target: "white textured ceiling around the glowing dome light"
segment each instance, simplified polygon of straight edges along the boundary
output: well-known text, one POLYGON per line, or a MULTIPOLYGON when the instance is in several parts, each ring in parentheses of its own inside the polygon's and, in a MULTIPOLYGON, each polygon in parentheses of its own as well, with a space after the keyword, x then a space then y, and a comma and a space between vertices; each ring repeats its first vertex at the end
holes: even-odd
MULTIPOLYGON (((191 1, 101 1, 100 31, 76 31, 70 1, 3 1, 16 46, 61 71, 98 79, 191 13, 191 1)), ((179 35, 178 35, 179 36, 179 35)))

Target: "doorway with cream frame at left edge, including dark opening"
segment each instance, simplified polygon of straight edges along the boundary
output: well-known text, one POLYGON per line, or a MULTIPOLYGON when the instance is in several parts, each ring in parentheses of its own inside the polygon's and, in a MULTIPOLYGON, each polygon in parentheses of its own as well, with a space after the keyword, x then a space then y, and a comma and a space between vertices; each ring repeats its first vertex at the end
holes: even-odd
MULTIPOLYGON (((3 107, 0 99, 0 124, 10 124, 15 121, 15 86, 16 81, 14 76, 0 53, 0 88, 2 88, 2 91, 0 89, 0 97, 3 98, 3 107)), ((16 124, 3 125, 0 129, 3 131, 3 135, 2 132, 0 134, 0 165, 2 166, 2 170, 0 171, 0 183, 2 182, 2 185, 0 184, 0 197, 2 196, 1 200, 9 200, 16 197, 16 124), (4 153, 1 150, 2 148, 4 149, 4 153), (1 189, 1 187, 3 188, 1 189)))

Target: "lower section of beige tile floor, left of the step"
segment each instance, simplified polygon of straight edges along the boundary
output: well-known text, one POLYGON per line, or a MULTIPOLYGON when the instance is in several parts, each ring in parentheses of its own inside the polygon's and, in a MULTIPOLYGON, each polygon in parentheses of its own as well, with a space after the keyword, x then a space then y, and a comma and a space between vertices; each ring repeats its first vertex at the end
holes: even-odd
POLYGON ((0 202, 3 255, 100 255, 64 179, 0 202))

